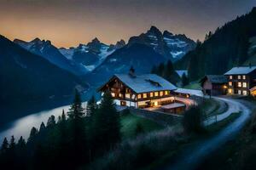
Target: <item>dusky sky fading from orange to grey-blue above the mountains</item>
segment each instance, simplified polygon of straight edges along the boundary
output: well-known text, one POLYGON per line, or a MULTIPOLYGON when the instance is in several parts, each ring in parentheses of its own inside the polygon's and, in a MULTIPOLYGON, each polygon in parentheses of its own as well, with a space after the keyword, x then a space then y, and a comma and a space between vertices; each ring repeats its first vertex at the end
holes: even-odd
POLYGON ((253 6, 256 0, 0 0, 0 34, 11 40, 39 37, 68 48, 94 37, 127 42, 157 26, 203 40, 253 6))

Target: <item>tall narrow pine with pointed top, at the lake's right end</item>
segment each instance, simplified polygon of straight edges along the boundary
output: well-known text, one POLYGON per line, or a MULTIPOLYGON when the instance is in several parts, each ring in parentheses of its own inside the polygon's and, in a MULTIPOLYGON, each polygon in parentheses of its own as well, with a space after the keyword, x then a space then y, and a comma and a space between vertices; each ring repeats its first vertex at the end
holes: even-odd
POLYGON ((73 100, 73 104, 67 112, 67 115, 71 119, 78 119, 84 116, 84 108, 82 107, 81 97, 77 89, 75 89, 75 97, 73 100))

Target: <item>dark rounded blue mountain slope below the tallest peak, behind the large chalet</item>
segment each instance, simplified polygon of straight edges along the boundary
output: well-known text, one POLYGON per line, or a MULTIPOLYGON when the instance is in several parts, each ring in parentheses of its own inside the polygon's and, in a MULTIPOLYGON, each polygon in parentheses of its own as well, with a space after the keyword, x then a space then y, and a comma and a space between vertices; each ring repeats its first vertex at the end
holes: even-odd
POLYGON ((128 72, 131 65, 137 74, 141 74, 150 72, 153 65, 165 61, 166 58, 156 53, 153 48, 141 43, 134 43, 108 55, 101 65, 87 75, 87 79, 98 86, 113 74, 128 72))

